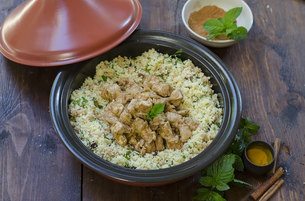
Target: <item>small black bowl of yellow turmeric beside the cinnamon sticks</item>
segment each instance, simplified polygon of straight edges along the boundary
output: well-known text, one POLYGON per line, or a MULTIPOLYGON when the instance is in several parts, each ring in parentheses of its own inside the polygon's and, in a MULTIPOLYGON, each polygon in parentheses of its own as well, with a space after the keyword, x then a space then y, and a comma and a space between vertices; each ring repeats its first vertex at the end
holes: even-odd
MULTIPOLYGON (((259 154, 258 151, 255 154, 258 155, 259 154)), ((251 141, 246 146, 246 148, 242 154, 242 160, 244 162, 246 170, 248 170, 252 174, 263 175, 263 174, 268 173, 274 166, 275 150, 273 149, 273 147, 270 144, 268 144, 265 141, 254 140, 254 141, 251 141), (249 159, 247 157, 247 151, 254 149, 254 148, 263 151, 267 155, 268 164, 255 164, 255 163, 251 162, 251 159, 249 159), (269 155, 269 157, 268 157, 268 155, 269 155)))

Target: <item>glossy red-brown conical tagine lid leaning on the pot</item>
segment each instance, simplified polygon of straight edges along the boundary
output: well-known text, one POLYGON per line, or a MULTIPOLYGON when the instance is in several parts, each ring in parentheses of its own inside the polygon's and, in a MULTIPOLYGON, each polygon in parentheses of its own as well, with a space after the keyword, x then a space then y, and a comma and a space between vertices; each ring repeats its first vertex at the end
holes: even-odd
POLYGON ((141 17, 138 0, 28 0, 0 27, 0 51, 31 66, 76 63, 123 42, 141 17))

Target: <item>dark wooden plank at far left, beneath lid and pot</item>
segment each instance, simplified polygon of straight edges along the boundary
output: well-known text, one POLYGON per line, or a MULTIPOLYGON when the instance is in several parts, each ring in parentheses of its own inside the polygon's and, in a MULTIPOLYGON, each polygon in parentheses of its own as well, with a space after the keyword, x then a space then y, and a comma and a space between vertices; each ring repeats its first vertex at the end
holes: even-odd
MULTIPOLYGON (((21 2, 1 1, 1 24, 21 2)), ((3 55, 0 61, 0 200, 80 200, 81 164, 49 114, 59 67, 19 65, 3 55)))

